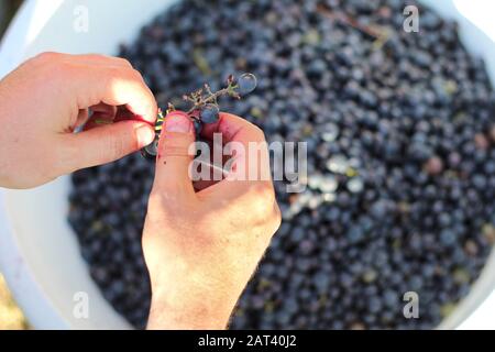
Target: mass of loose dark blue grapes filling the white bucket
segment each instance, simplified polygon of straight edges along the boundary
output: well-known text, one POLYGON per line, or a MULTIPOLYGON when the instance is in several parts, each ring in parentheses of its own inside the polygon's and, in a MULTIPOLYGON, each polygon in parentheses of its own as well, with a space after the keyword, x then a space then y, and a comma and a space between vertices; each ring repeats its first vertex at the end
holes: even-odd
MULTIPOLYGON (((122 46, 158 105, 180 110, 175 97, 205 81, 255 74, 223 110, 268 142, 307 142, 307 188, 275 183, 283 223, 233 329, 430 329, 479 277, 495 243, 495 95, 454 22, 417 4, 420 32, 403 30, 411 3, 184 0, 122 46), (403 315, 407 292, 419 319, 403 315)), ((134 154, 76 173, 70 196, 92 277, 139 328, 152 179, 134 154)))

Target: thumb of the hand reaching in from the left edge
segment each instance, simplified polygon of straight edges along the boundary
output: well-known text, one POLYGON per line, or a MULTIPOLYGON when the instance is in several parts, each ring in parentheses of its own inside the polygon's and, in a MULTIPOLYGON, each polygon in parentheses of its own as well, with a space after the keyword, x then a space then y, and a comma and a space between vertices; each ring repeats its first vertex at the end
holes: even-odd
POLYGON ((75 169, 111 163, 133 153, 155 138, 146 122, 121 121, 101 125, 77 134, 69 134, 69 145, 76 155, 75 169))

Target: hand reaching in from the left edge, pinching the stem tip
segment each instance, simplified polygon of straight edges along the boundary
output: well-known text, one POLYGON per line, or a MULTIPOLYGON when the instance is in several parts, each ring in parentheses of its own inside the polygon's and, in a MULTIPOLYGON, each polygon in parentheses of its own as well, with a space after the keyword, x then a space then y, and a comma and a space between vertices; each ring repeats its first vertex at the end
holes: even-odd
POLYGON ((38 186, 138 151, 154 139, 156 112, 125 59, 57 53, 29 59, 0 81, 0 186, 38 186), (88 109, 85 131, 73 133, 88 109))

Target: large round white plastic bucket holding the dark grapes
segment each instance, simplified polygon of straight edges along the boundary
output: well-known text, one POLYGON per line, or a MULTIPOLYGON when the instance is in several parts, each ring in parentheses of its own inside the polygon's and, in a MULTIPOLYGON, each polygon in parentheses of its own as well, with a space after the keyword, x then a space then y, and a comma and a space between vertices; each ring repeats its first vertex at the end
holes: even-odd
MULTIPOLYGON (((44 51, 116 54, 118 44, 135 38, 143 24, 173 2, 30 0, 2 43, 0 77, 23 59, 44 51), (81 28, 75 28, 75 21, 86 13, 88 32, 78 32, 81 28)), ((424 2, 459 21, 464 44, 485 58, 495 82, 491 2, 424 2)), ((69 187, 70 180, 65 176, 33 190, 0 189, 0 268, 34 328, 128 329, 129 323, 112 309, 90 278, 76 237, 67 224, 69 187), (89 298, 87 319, 74 315, 76 302, 85 297, 78 293, 89 298)), ((492 255, 470 295, 440 328, 495 328, 494 288, 495 256, 492 255)))

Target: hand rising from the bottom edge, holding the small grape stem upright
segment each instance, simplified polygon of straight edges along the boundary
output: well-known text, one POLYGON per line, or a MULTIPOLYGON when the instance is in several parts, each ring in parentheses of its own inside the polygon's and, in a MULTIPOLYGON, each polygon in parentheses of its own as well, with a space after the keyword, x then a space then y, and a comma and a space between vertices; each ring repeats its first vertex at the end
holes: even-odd
MULTIPOLYGON (((265 141, 258 128, 227 113, 202 136, 211 140, 213 132, 245 148, 265 141)), ((165 118, 143 232, 152 284, 148 329, 224 329, 280 223, 271 180, 231 177, 195 193, 188 155, 194 141, 185 113, 165 118)), ((265 144, 261 168, 270 169, 267 153, 265 144)), ((230 176, 245 170, 249 157, 234 155, 230 176)))

